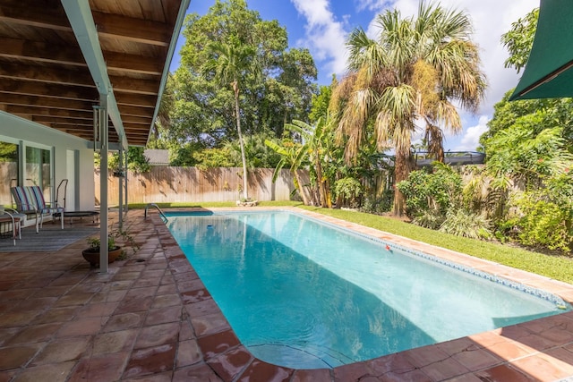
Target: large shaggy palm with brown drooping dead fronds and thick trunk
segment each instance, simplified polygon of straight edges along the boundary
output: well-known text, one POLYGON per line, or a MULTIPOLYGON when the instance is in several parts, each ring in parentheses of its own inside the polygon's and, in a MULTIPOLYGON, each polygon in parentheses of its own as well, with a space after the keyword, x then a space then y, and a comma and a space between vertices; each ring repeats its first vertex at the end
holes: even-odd
MULTIPOLYGON (((394 10, 379 14, 376 22, 378 38, 368 38, 362 29, 348 38, 349 74, 335 90, 333 103, 339 105, 338 132, 346 137, 346 162, 355 160, 373 127, 379 149, 395 151, 398 183, 412 169, 415 123, 425 123, 428 147, 443 160, 440 126, 461 130, 452 102, 475 112, 485 77, 465 13, 421 2, 416 19, 402 18, 394 10)), ((402 214, 403 205, 397 190, 396 215, 402 214)))

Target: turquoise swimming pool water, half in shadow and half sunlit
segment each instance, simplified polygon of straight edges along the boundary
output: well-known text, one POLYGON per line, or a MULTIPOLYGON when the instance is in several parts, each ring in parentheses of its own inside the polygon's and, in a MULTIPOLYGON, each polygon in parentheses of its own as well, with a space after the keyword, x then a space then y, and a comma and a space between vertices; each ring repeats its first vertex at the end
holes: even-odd
POLYGON ((281 366, 332 368, 570 309, 290 212, 171 214, 167 225, 241 342, 281 366))

